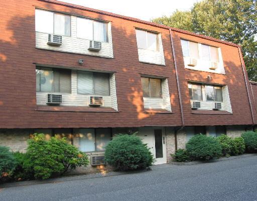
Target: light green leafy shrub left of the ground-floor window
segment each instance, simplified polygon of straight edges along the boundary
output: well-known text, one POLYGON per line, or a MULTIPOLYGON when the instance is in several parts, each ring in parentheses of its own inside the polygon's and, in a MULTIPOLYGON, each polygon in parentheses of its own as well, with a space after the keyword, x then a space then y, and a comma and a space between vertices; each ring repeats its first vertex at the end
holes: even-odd
POLYGON ((51 137, 46 141, 44 134, 35 134, 34 138, 29 140, 27 154, 33 166, 34 176, 39 179, 63 174, 69 168, 75 169, 89 163, 87 156, 68 144, 65 138, 51 137))

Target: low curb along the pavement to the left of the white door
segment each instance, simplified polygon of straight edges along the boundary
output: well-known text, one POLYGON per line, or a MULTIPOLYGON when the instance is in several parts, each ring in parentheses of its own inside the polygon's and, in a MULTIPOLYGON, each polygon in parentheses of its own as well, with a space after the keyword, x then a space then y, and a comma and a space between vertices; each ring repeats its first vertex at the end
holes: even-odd
POLYGON ((17 186, 36 185, 36 184, 60 183, 64 181, 100 178, 100 177, 116 176, 116 175, 122 175, 122 174, 134 174, 134 173, 140 173, 140 172, 146 172, 146 171, 148 170, 144 169, 144 170, 126 171, 126 172, 107 172, 104 174, 94 173, 94 174, 67 175, 67 176, 62 176, 58 178, 46 179, 46 180, 17 181, 17 182, 0 184, 0 189, 17 187, 17 186))

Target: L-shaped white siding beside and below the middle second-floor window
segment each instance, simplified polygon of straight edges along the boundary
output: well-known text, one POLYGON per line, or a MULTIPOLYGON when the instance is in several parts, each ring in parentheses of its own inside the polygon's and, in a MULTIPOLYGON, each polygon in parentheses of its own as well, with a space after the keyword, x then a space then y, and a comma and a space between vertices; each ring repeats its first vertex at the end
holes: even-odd
POLYGON ((164 109, 171 112, 171 99, 169 93, 168 79, 162 80, 162 98, 143 97, 145 109, 164 109))

